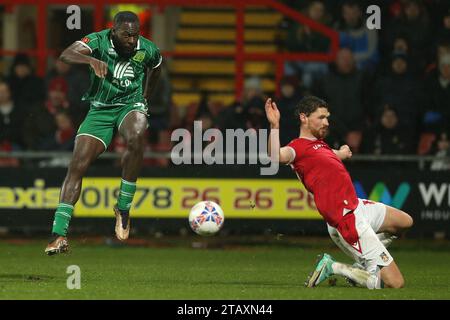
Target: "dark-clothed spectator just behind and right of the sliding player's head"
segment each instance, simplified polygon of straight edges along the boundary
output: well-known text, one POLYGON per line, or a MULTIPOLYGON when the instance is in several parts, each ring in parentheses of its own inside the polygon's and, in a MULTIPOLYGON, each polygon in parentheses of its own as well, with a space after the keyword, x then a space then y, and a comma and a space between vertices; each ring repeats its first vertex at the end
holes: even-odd
POLYGON ((357 153, 364 126, 363 74, 356 69, 349 49, 341 49, 336 57, 335 70, 316 85, 314 94, 330 104, 331 131, 328 137, 333 147, 348 144, 357 153))

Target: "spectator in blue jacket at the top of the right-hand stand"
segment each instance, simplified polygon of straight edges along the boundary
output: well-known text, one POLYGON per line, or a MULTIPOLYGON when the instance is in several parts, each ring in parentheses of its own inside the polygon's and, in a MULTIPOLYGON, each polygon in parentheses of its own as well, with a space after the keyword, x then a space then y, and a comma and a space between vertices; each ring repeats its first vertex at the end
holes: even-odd
POLYGON ((352 51, 358 69, 373 69, 378 64, 378 33, 365 25, 359 1, 346 0, 342 5, 341 20, 335 25, 339 31, 340 46, 352 51))

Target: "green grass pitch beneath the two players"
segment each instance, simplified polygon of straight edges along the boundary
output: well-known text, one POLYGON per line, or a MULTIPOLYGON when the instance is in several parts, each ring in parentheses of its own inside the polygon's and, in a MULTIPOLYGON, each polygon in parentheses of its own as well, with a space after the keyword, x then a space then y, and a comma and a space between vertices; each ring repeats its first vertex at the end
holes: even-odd
POLYGON ((180 238, 117 246, 72 240, 71 253, 48 257, 45 240, 1 240, 0 299, 450 299, 448 242, 397 240, 390 252, 406 287, 367 290, 341 277, 335 286, 303 286, 318 254, 351 262, 329 239, 221 241, 180 238), (79 290, 66 286, 71 265, 81 270, 79 290))

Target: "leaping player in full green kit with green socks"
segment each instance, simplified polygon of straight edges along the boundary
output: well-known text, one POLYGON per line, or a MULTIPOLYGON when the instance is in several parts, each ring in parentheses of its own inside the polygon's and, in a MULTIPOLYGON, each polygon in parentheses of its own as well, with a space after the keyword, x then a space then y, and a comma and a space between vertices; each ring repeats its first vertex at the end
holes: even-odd
POLYGON ((147 101, 162 63, 159 49, 139 35, 139 19, 129 11, 117 13, 111 29, 94 32, 73 43, 60 59, 68 64, 90 66, 91 85, 82 98, 89 101, 90 110, 77 132, 55 212, 52 238, 45 249, 48 255, 68 251, 67 232, 80 197, 82 178, 89 165, 108 148, 115 132, 127 144, 122 156, 120 192, 114 206, 115 233, 121 241, 128 238, 129 212, 148 127, 147 101))

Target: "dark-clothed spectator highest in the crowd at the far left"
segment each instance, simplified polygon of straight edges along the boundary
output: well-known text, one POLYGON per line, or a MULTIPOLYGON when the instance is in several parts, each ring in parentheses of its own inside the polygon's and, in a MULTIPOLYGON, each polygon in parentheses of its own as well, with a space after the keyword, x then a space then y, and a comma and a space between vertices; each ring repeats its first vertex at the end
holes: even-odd
POLYGON ((13 61, 8 82, 17 108, 29 109, 30 105, 45 100, 42 79, 34 75, 27 55, 18 54, 13 61))

